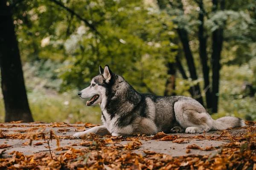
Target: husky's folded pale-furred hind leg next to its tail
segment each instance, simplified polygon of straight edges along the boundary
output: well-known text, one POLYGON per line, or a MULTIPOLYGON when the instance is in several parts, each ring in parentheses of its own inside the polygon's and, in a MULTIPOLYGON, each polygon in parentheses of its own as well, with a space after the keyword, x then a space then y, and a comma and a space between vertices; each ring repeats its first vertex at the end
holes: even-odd
POLYGON ((194 100, 181 100, 174 105, 175 117, 186 133, 208 132, 213 120, 204 107, 194 100))

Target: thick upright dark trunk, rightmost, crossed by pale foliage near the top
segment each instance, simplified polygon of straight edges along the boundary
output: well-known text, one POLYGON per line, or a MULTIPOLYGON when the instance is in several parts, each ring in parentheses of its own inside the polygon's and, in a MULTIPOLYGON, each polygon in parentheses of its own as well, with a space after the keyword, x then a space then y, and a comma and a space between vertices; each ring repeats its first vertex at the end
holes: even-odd
MULTIPOLYGON (((212 0, 212 12, 217 11, 218 0, 212 0)), ((224 0, 221 0, 221 10, 224 9, 224 0)), ((223 42, 223 28, 212 32, 212 113, 218 112, 219 71, 223 42)))

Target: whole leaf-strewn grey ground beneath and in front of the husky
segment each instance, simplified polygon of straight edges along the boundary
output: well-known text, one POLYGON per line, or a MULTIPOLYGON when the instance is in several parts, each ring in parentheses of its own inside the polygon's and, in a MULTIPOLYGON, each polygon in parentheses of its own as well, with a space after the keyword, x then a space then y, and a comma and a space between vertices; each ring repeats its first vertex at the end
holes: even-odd
POLYGON ((247 127, 238 128, 240 130, 238 133, 232 133, 237 129, 230 129, 217 131, 217 135, 201 133, 192 136, 163 132, 155 136, 132 137, 90 134, 86 139, 79 140, 79 143, 78 139, 73 139, 67 134, 96 125, 81 122, 72 125, 43 122, 3 123, 0 124, 0 169, 256 170, 256 122, 246 123, 247 127), (19 147, 24 147, 25 150, 29 145, 33 148, 44 146, 45 150, 33 154, 17 151, 18 148, 12 145, 15 140, 19 140, 19 147), (169 148, 170 154, 159 153, 149 148, 143 149, 143 154, 136 152, 146 145, 145 142, 161 145, 163 141, 178 144, 178 147, 186 146, 184 148, 186 153, 184 152, 184 156, 172 156, 171 151, 178 149, 175 147, 169 148), (201 147, 194 141, 206 143, 221 141, 224 144, 220 146, 209 144, 201 147), (192 154, 193 150, 210 153, 192 154))

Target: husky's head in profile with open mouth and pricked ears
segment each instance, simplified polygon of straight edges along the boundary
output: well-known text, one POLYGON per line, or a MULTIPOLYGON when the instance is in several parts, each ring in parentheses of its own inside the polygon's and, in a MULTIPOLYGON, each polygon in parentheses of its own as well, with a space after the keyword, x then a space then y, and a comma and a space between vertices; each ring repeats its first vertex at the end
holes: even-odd
POLYGON ((87 106, 93 106, 102 102, 106 93, 106 88, 113 83, 113 73, 109 69, 108 65, 103 69, 99 66, 99 75, 94 77, 90 83, 90 86, 78 92, 78 95, 82 99, 89 99, 87 106))

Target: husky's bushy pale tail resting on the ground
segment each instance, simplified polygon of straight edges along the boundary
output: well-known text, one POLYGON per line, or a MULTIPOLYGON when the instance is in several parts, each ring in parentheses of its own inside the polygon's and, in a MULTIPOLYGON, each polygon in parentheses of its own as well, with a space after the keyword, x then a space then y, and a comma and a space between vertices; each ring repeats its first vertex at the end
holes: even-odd
POLYGON ((246 125, 242 119, 238 117, 233 117, 233 116, 224 116, 217 120, 213 120, 211 130, 225 130, 228 128, 244 127, 244 126, 246 125))

